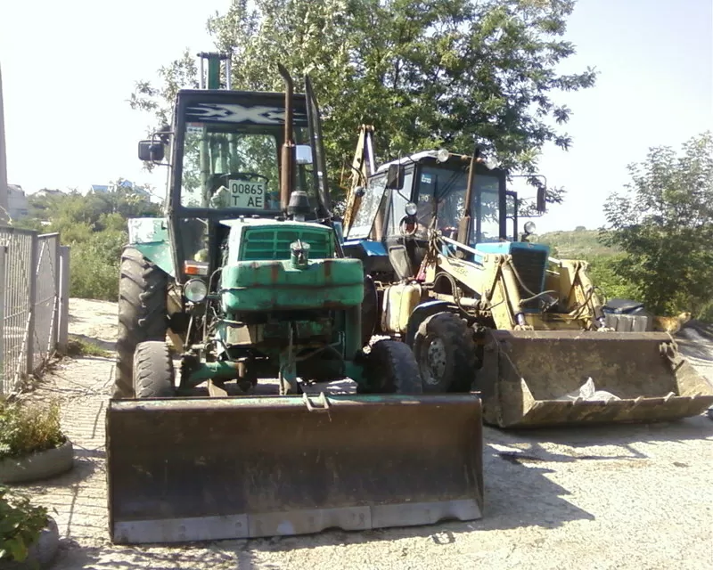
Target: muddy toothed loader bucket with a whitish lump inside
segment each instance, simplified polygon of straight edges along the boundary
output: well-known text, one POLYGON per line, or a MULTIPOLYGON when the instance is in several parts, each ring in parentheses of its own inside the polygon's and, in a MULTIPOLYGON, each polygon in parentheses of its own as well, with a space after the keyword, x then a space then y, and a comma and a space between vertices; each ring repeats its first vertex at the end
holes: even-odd
POLYGON ((532 428, 670 421, 713 405, 713 385, 665 332, 488 330, 485 423, 532 428))

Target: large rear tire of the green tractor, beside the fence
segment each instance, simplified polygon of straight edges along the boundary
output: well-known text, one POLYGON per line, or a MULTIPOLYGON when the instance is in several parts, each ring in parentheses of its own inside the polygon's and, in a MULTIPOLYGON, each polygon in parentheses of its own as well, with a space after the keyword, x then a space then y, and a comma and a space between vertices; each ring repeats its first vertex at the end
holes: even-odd
POLYGON ((168 275, 140 251, 127 247, 119 273, 119 335, 114 380, 115 398, 130 398, 133 390, 134 351, 144 340, 166 338, 168 275))

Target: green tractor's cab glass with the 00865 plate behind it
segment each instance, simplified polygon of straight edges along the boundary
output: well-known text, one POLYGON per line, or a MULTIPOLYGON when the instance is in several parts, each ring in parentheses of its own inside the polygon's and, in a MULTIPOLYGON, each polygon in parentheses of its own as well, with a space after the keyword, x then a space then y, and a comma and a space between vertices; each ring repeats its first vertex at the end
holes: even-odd
MULTIPOLYGON (((309 144, 307 126, 295 126, 296 144, 309 144)), ((185 125, 181 206, 280 209, 280 149, 283 126, 243 123, 185 125)), ((295 189, 316 200, 311 164, 296 165, 295 189)))

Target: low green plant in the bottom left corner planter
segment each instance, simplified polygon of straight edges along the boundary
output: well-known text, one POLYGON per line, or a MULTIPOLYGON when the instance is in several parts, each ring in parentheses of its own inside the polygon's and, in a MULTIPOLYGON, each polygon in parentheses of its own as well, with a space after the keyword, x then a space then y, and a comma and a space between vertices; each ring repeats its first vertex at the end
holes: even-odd
POLYGON ((32 505, 26 494, 11 493, 0 485, 0 562, 26 560, 46 524, 45 507, 32 505))

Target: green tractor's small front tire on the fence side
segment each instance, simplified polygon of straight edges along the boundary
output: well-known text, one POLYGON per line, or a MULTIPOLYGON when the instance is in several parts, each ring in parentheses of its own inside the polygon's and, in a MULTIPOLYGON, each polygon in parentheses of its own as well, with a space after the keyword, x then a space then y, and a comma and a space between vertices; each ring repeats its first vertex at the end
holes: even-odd
POLYGON ((167 398, 176 395, 176 373, 168 345, 149 340, 136 345, 134 392, 137 398, 167 398))

